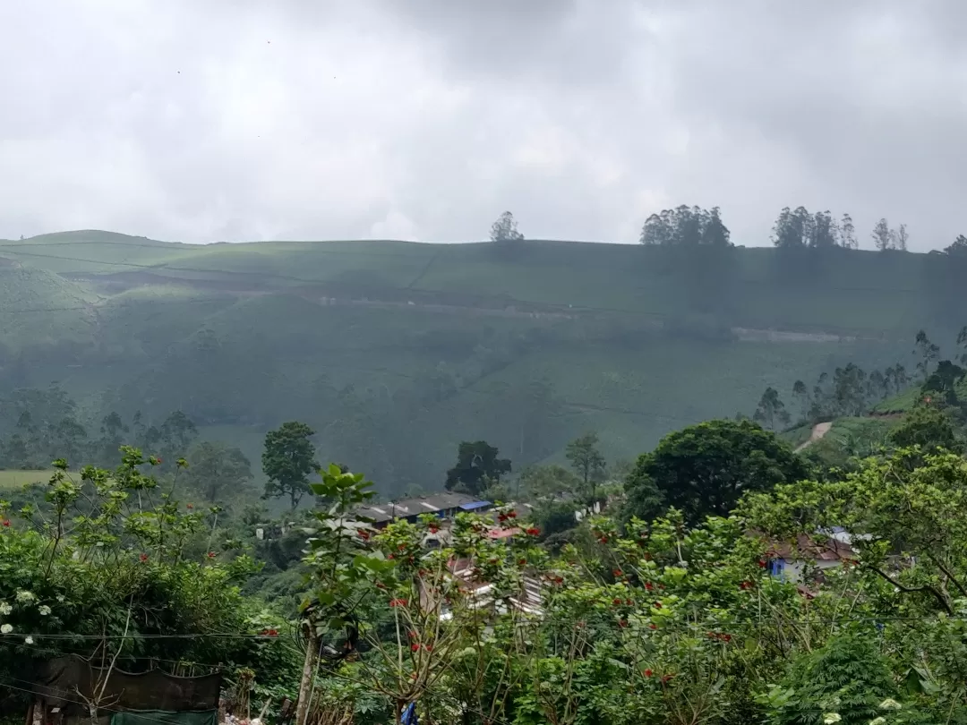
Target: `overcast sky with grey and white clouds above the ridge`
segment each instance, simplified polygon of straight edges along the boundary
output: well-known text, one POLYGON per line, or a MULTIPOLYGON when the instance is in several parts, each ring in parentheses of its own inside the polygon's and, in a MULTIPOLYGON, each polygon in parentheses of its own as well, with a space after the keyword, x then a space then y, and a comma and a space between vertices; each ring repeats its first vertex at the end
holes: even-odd
POLYGON ((963 0, 0 3, 0 237, 967 233, 963 0))

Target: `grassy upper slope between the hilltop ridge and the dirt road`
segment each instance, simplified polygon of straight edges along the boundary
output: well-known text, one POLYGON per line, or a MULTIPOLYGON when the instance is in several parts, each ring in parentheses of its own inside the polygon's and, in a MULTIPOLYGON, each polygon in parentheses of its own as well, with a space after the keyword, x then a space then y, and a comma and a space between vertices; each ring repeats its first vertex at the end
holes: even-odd
MULTIPOLYGON (((264 242, 191 246, 107 232, 66 232, 0 243, 0 255, 57 273, 150 272, 174 280, 283 289, 410 291, 667 319, 693 307, 689 283, 636 245, 529 241, 513 260, 487 244, 264 242)), ((735 250, 732 282, 715 308, 734 324, 909 335, 934 316, 921 254, 845 251, 809 283, 777 273, 768 248, 735 250), (724 303, 724 304, 723 304, 724 303)))

